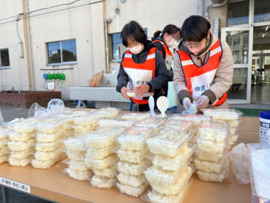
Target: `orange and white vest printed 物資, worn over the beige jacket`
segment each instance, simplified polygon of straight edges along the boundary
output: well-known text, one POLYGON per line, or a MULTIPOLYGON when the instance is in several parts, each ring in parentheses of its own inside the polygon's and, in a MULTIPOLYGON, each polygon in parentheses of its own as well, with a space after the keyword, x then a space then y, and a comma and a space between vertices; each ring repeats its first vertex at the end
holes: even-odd
MULTIPOLYGON (((197 66, 190 57, 190 54, 180 51, 178 48, 176 48, 176 53, 178 53, 180 58, 188 92, 193 96, 195 101, 198 101, 202 93, 210 88, 210 84, 215 78, 217 66, 220 64, 222 57, 220 40, 210 48, 208 61, 202 66, 197 66)), ((227 100, 227 93, 224 93, 221 98, 215 100, 212 105, 222 105, 225 100, 227 100)))

